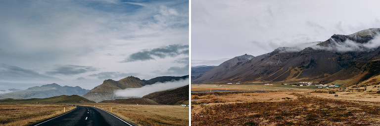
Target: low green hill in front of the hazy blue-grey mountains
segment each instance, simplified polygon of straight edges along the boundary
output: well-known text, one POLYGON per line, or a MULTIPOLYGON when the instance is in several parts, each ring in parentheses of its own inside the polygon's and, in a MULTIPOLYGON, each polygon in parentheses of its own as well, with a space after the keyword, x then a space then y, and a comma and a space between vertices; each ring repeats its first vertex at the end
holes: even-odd
POLYGON ((0 103, 95 103, 78 95, 60 95, 49 98, 31 98, 31 99, 1 99, 0 103))

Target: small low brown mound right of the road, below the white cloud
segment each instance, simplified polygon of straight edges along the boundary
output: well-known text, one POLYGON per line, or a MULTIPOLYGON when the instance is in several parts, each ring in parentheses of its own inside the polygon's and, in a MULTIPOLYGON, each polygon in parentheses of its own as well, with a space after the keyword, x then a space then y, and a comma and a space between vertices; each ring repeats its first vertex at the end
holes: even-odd
POLYGON ((119 103, 119 104, 131 104, 131 105, 159 105, 157 102, 148 98, 129 98, 129 99, 116 99, 116 100, 104 100, 99 103, 119 103))

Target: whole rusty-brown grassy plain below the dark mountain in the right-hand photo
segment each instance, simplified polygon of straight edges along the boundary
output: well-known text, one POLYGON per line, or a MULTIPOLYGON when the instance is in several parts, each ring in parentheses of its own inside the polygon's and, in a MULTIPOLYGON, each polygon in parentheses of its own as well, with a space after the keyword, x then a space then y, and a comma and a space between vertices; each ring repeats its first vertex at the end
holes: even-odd
POLYGON ((379 126, 379 89, 191 93, 191 126, 379 126))

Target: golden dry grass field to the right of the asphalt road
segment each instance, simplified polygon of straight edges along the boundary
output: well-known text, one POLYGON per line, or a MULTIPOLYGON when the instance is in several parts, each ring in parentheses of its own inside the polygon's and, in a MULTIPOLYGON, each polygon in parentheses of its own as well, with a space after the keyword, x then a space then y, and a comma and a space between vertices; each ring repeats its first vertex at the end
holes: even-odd
POLYGON ((189 107, 178 105, 125 105, 95 103, 94 106, 139 126, 189 126, 189 107), (111 112, 112 107, 112 112, 111 112))

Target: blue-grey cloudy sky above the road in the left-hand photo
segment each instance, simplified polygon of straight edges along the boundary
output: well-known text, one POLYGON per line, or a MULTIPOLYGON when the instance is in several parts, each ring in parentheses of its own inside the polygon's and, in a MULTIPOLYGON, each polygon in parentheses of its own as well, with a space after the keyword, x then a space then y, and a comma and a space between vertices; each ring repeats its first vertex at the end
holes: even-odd
POLYGON ((189 74, 188 0, 0 0, 0 90, 189 74))

